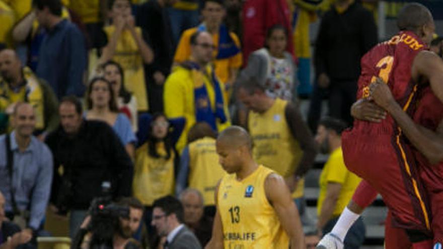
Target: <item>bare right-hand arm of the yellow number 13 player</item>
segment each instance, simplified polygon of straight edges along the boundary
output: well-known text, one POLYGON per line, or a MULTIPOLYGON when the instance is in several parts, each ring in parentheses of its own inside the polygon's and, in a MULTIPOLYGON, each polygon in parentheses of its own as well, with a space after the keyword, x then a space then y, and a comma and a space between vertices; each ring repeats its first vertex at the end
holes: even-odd
POLYGON ((289 236, 290 248, 305 248, 305 236, 299 211, 290 196, 284 179, 277 174, 270 174, 265 181, 265 193, 281 226, 289 236))

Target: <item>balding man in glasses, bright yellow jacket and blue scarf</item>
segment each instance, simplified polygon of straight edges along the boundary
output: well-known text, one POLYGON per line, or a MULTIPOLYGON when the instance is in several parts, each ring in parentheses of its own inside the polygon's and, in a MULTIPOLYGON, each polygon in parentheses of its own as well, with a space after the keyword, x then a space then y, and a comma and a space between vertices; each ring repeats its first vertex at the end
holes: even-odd
POLYGON ((186 125, 176 145, 181 152, 189 129, 206 122, 221 130, 230 125, 222 85, 209 64, 214 43, 209 33, 197 31, 190 37, 191 57, 173 69, 165 82, 164 104, 168 118, 183 117, 186 125))

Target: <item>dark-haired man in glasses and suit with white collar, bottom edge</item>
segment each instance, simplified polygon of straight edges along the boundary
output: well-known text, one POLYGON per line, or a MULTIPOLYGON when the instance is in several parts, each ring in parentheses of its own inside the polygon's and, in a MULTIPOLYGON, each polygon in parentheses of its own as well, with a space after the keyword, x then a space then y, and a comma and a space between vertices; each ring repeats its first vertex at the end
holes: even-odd
POLYGON ((165 249, 201 249, 197 237, 183 224, 182 204, 172 196, 154 202, 152 225, 159 236, 166 236, 165 249))

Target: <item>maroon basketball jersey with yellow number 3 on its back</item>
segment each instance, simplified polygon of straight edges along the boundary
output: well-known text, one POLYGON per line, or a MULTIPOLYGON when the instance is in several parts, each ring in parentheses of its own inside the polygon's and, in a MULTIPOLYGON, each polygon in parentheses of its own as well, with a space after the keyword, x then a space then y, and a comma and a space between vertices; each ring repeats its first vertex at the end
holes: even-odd
MULTIPOLYGON (((426 47, 414 33, 404 31, 372 48, 361 58, 357 99, 369 97, 368 87, 379 76, 387 82, 400 106, 410 113, 417 90, 417 84, 411 77, 411 67, 415 56, 426 47)), ((390 116, 380 124, 355 120, 353 130, 393 135, 394 124, 390 116)))

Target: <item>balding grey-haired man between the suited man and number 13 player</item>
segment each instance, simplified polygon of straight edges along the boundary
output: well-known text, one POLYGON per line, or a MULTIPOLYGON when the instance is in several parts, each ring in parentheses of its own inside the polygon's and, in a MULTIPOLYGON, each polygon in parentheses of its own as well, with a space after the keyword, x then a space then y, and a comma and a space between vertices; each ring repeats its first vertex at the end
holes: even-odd
POLYGON ((213 218, 204 213, 203 195, 196 189, 185 189, 179 199, 184 208, 184 220, 201 245, 207 244, 212 235, 213 218))

